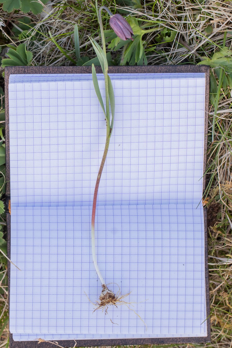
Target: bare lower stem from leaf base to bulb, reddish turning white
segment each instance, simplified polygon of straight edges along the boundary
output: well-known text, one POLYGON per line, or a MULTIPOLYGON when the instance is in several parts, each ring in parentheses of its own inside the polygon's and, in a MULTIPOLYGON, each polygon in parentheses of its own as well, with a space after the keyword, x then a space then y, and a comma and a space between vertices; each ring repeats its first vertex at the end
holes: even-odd
POLYGON ((106 156, 107 156, 108 149, 109 149, 109 134, 107 132, 106 145, 105 145, 105 149, 104 149, 104 152, 103 152, 100 168, 99 168, 99 171, 98 171, 98 177, 97 177, 96 184, 95 184, 95 189, 94 189, 92 221, 91 221, 91 238, 92 238, 93 263, 94 263, 94 267, 96 269, 96 272, 97 272, 97 274, 99 276, 99 279, 101 280, 102 284, 106 284, 106 283, 105 283, 105 281, 104 281, 104 279, 103 279, 103 277, 101 275, 100 269, 98 267, 98 262, 97 262, 97 259, 96 259, 96 250, 95 250, 95 215, 96 215, 96 200, 97 200, 97 197, 98 197, 98 188, 99 188, 99 184, 100 184, 100 179, 101 179, 101 174, 102 174, 102 171, 103 171, 103 167, 104 167, 104 164, 105 164, 105 161, 106 161, 106 156))

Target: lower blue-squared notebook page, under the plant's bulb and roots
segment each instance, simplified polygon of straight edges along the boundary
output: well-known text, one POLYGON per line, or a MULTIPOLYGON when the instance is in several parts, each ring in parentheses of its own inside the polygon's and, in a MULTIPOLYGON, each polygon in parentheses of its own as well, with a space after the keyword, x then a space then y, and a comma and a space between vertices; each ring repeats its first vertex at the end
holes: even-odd
POLYGON ((91 207, 18 207, 11 214, 10 331, 205 334, 204 228, 193 205, 98 206, 102 275, 124 300, 108 315, 90 255, 91 207), (49 230, 48 230, 49 226, 49 230), (26 256, 25 256, 26 255, 26 256), (88 296, 88 297, 87 297, 88 296), (88 299, 89 298, 89 299, 88 299), (133 305, 133 307, 132 307, 133 305), (115 323, 112 324, 111 320, 115 323))

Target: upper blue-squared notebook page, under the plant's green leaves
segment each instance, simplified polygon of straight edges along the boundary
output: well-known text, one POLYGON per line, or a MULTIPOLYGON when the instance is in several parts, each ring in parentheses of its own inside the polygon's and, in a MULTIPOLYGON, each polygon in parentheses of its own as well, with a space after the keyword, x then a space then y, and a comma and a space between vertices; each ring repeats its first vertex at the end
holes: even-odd
MULTIPOLYGON (((115 124, 98 205, 198 204, 204 74, 115 76, 115 124)), ((92 77, 83 78, 63 82, 15 78, 15 83, 14 75, 11 78, 11 206, 92 204, 106 124, 92 77)), ((99 85, 104 95, 101 75, 99 85)))

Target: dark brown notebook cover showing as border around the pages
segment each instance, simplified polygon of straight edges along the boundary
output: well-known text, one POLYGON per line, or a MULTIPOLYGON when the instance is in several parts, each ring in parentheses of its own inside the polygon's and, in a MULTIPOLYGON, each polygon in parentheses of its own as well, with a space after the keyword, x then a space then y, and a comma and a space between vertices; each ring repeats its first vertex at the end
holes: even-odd
MULTIPOLYGON (((101 73, 101 69, 96 67, 96 72, 101 73)), ((7 206, 10 202, 10 151, 9 151, 9 104, 8 104, 8 82, 11 74, 85 74, 91 73, 91 67, 6 67, 5 68, 5 96, 6 96, 6 201, 7 206)), ((204 138, 204 173, 207 162, 207 132, 208 132, 208 106, 209 106, 209 67, 200 65, 169 65, 169 66, 110 66, 109 73, 205 73, 206 95, 205 95, 205 138, 204 138)), ((206 188, 206 176, 203 177, 203 192, 206 188)), ((205 232, 205 284, 206 284, 206 310, 207 310, 207 337, 166 337, 166 338, 114 338, 114 339, 81 339, 58 341, 59 346, 116 346, 116 345, 147 345, 147 344, 171 344, 171 343, 200 343, 210 341, 210 300, 209 300, 209 280, 208 280, 208 248, 207 248, 207 212, 204 209, 204 232, 205 232)), ((7 211, 7 232, 8 232, 8 257, 10 258, 10 213, 7 211)), ((8 262, 8 284, 9 284, 9 305, 10 305, 10 269, 8 262)), ((38 341, 14 341, 10 334, 10 347, 37 347, 38 341)), ((51 343, 41 342, 39 346, 51 347, 51 343)))

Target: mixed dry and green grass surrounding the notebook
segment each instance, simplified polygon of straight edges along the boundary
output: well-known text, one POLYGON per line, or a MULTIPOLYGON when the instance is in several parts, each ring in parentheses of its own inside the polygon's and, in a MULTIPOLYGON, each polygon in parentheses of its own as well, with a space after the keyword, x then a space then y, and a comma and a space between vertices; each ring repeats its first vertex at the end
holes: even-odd
MULTIPOLYGON (((204 57, 211 59, 214 53, 221 52, 225 47, 231 52, 230 1, 109 0, 98 3, 110 7, 113 13, 117 11, 124 16, 130 15, 131 18, 137 19, 140 29, 147 30, 142 36, 142 45, 148 64, 197 64, 202 62, 204 57)), ((32 65, 73 65, 72 62, 77 61, 75 24, 78 25, 81 58, 95 57, 88 39, 88 36, 95 39, 99 36, 94 2, 52 0, 41 15, 25 15, 17 10, 9 15, 0 9, 0 16, 7 23, 3 28, 6 36, 1 35, 4 58, 6 44, 14 42, 18 46, 24 43, 33 53, 32 65)), ((106 29, 109 29, 108 20, 108 16, 103 19, 106 29)), ((138 27, 137 29, 139 30, 138 27)), ((111 42, 111 45, 115 47, 113 43, 111 42)), ((127 46, 111 52, 114 64, 123 63, 129 45, 130 43, 127 43, 127 46)), ((224 58, 226 64, 223 68, 222 61, 211 61, 208 186, 204 195, 208 205, 209 223, 212 342, 178 347, 232 347, 232 66, 230 56, 224 58)), ((3 79, 1 84, 3 86, 3 79)), ((0 121, 2 120, 1 118, 0 121)), ((0 136, 2 138, 4 132, 0 136)), ((0 182, 1 186, 3 182, 4 180, 0 182)), ((4 199, 4 188, 0 192, 4 199)), ((5 258, 0 262, 0 279, 3 278, 0 291, 0 347, 5 347, 8 340, 5 258)))

